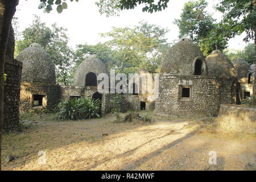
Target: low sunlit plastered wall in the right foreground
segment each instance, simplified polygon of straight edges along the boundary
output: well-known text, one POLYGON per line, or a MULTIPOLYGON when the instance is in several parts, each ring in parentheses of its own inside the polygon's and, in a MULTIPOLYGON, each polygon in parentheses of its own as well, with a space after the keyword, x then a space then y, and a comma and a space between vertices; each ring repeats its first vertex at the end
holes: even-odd
POLYGON ((227 131, 256 133, 256 108, 243 105, 222 104, 218 125, 227 131))

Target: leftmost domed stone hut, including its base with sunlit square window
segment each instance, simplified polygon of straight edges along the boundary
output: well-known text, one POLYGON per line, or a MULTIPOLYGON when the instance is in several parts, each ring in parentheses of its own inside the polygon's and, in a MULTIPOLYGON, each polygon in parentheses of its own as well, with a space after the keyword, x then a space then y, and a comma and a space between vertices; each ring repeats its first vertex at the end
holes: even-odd
POLYGON ((59 100, 59 85, 51 57, 33 43, 16 59, 23 63, 20 110, 52 109, 59 100))

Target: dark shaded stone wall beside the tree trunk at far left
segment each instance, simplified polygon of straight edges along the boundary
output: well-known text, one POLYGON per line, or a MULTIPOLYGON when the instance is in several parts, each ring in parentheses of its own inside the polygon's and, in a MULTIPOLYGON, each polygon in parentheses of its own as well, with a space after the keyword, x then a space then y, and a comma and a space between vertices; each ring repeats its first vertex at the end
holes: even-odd
POLYGON ((22 63, 6 57, 5 73, 7 79, 4 84, 3 97, 3 129, 16 129, 19 126, 19 96, 22 63))

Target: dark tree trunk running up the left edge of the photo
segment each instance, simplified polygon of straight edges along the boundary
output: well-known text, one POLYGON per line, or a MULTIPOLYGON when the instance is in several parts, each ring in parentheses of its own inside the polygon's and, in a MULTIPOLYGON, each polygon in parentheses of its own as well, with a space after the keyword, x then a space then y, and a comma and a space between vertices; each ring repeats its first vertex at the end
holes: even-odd
POLYGON ((18 0, 0 0, 0 171, 3 130, 3 73, 11 20, 13 19, 18 0))

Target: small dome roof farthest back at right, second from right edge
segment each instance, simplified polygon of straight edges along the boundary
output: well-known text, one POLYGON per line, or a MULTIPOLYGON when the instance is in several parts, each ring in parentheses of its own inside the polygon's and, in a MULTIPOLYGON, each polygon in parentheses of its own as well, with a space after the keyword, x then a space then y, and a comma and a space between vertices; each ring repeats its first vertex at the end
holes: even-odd
POLYGON ((237 71, 237 78, 246 78, 248 73, 250 72, 250 65, 242 60, 241 58, 238 58, 233 61, 234 68, 237 71))

